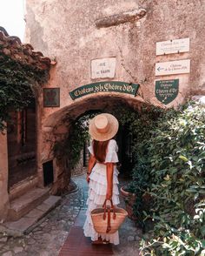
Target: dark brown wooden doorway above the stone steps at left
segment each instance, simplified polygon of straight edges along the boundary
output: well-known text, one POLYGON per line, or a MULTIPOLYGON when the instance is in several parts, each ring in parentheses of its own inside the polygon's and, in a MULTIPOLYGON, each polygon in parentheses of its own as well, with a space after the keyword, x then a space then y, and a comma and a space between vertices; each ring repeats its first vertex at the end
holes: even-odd
POLYGON ((10 113, 8 122, 8 159, 10 189, 36 175, 36 101, 22 111, 10 113))

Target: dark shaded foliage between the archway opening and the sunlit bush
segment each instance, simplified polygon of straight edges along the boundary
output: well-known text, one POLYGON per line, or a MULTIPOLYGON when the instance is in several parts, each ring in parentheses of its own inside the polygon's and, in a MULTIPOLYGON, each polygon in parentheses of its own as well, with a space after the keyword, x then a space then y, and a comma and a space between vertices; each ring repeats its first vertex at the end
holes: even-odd
POLYGON ((149 140, 152 137, 151 131, 158 125, 158 119, 162 118, 165 110, 155 106, 143 105, 139 111, 122 109, 116 113, 121 125, 126 125, 132 135, 132 161, 131 182, 126 191, 136 194, 136 202, 133 205, 133 213, 136 223, 142 228, 145 222, 148 224, 149 208, 152 200, 149 195, 151 185, 150 161, 148 158, 149 140), (145 221, 146 220, 146 221, 145 221))

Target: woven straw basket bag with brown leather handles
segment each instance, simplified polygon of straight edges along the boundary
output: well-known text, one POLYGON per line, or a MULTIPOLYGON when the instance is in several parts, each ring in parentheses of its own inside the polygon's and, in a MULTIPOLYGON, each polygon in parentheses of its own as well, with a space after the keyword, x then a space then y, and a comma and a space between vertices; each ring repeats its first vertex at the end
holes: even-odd
POLYGON ((106 205, 106 201, 102 208, 96 208, 91 212, 91 218, 96 232, 111 234, 122 225, 128 212, 122 208, 116 208, 111 200, 111 207, 109 207, 106 205))

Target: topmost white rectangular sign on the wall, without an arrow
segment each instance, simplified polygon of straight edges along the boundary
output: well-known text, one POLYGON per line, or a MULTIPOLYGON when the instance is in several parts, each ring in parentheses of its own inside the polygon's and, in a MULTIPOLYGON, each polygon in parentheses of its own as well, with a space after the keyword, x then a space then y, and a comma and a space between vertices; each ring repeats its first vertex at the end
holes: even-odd
POLYGON ((155 54, 163 55, 189 51, 189 38, 175 39, 156 43, 155 54))

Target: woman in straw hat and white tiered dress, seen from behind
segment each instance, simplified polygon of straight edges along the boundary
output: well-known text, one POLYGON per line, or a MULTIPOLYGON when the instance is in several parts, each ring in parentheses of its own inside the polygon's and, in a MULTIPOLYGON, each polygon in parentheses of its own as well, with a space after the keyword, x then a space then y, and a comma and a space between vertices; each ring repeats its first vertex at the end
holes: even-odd
POLYGON ((90 237, 93 244, 119 244, 118 232, 113 234, 97 233, 90 216, 93 209, 102 207, 105 199, 112 199, 114 205, 120 203, 117 187, 119 172, 116 169, 118 148, 116 140, 111 139, 116 135, 118 127, 117 119, 107 113, 97 115, 89 123, 89 134, 93 141, 89 146, 90 158, 87 172, 89 198, 87 200, 87 218, 83 229, 84 235, 90 237))

